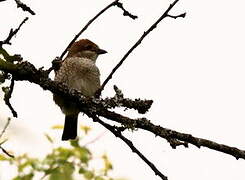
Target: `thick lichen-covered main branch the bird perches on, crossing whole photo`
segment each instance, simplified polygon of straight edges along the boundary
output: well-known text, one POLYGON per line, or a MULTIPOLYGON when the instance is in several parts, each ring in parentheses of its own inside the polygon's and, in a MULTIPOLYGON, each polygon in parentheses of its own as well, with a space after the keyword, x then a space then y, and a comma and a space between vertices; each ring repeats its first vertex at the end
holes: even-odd
POLYGON ((161 126, 154 125, 146 118, 131 119, 116 112, 111 112, 107 110, 107 105, 105 104, 105 102, 103 102, 103 99, 101 100, 85 98, 80 92, 76 91, 75 89, 69 89, 66 85, 52 81, 51 79, 47 78, 43 75, 43 70, 37 70, 29 62, 12 64, 10 62, 6 62, 0 59, 0 70, 11 73, 15 80, 27 80, 29 82, 38 84, 44 90, 49 90, 52 93, 62 95, 63 97, 68 98, 73 102, 76 102, 81 112, 84 112, 87 115, 91 113, 96 114, 106 119, 118 122, 126 128, 144 129, 166 140, 176 139, 178 141, 195 145, 198 148, 203 146, 209 149, 232 155, 237 159, 245 159, 245 151, 240 150, 236 147, 230 147, 227 145, 216 143, 214 141, 194 137, 191 134, 185 134, 171 129, 163 128, 161 126))

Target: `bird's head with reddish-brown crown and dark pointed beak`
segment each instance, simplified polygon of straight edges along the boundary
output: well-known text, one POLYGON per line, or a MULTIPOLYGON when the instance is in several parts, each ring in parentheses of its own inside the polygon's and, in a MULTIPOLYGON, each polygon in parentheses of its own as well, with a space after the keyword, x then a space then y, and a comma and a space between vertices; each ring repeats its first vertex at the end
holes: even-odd
POLYGON ((83 57, 96 61, 98 55, 107 53, 88 39, 81 39, 69 48, 67 57, 83 57))

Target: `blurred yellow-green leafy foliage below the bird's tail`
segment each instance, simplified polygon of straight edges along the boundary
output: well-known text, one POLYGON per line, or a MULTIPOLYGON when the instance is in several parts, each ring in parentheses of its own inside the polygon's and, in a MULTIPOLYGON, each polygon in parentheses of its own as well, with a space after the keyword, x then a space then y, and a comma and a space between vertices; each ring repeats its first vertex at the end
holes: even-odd
MULTIPOLYGON (((85 134, 90 130, 81 129, 85 134)), ((48 134, 45 136, 50 143, 54 143, 48 134)), ((108 175, 113 166, 107 155, 103 154, 99 157, 103 162, 102 168, 92 168, 90 163, 95 158, 87 147, 80 145, 79 141, 79 139, 70 141, 68 147, 55 147, 43 159, 33 158, 28 154, 15 158, 0 155, 0 161, 7 161, 11 167, 17 168, 17 175, 13 180, 32 180, 38 177, 47 180, 116 180, 108 175)))

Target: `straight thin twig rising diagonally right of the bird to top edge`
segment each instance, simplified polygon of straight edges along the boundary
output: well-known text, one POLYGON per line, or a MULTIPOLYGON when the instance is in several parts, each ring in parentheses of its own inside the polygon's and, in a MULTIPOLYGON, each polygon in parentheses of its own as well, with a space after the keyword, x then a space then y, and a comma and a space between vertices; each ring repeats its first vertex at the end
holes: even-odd
MULTIPOLYGON (((117 69, 123 64, 123 62, 126 60, 126 58, 133 52, 133 50, 140 45, 142 40, 153 30, 157 27, 158 23, 161 22, 164 18, 166 17, 171 17, 168 15, 169 11, 174 7, 174 5, 178 2, 179 0, 175 0, 168 9, 163 13, 163 15, 158 18, 158 20, 151 25, 151 27, 143 33, 143 35, 138 39, 138 41, 128 50, 128 52, 123 56, 123 58, 119 61, 119 63, 112 69, 111 73, 108 75, 108 77, 105 79, 103 82, 100 90, 97 92, 97 94, 101 94, 103 89, 105 88, 105 85, 109 82, 109 80, 112 78, 113 74, 117 71, 117 69)), ((185 14, 185 13, 184 13, 185 14)), ((179 15, 179 17, 184 17, 183 15, 179 15)))

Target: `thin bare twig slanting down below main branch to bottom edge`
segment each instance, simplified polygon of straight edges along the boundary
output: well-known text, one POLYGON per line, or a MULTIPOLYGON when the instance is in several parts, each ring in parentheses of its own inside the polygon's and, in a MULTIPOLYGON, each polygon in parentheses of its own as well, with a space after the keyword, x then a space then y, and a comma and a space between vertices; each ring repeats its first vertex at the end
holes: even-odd
POLYGON ((148 160, 134 145, 133 143, 127 139, 126 137, 124 137, 121 133, 121 131, 119 129, 117 129, 114 126, 111 126, 105 122, 103 122, 102 120, 100 120, 97 116, 92 115, 92 118, 95 122, 100 123, 102 126, 104 126, 106 129, 108 129, 109 131, 111 131, 116 137, 119 137, 124 143, 126 143, 128 145, 128 147, 132 150, 132 152, 136 153, 153 171, 156 175, 158 175, 159 177, 161 177, 161 179, 163 180, 167 180, 168 178, 163 175, 157 168, 156 166, 150 161, 148 160))

